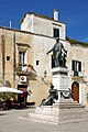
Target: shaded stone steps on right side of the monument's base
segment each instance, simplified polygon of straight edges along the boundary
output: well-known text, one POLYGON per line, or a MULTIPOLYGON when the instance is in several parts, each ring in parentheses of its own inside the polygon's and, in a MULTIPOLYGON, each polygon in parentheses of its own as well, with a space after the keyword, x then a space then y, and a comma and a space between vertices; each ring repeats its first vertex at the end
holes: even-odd
POLYGON ((59 123, 78 122, 88 120, 88 112, 85 108, 61 109, 59 123))

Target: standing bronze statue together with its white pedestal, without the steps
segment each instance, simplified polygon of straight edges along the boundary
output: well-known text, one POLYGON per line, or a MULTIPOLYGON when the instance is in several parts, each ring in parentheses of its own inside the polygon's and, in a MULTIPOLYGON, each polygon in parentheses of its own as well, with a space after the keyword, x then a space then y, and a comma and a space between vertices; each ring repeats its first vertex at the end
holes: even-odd
POLYGON ((68 88, 68 68, 66 66, 67 51, 59 38, 56 38, 56 44, 46 54, 53 52, 53 86, 58 90, 58 102, 61 99, 69 99, 70 90, 68 88))

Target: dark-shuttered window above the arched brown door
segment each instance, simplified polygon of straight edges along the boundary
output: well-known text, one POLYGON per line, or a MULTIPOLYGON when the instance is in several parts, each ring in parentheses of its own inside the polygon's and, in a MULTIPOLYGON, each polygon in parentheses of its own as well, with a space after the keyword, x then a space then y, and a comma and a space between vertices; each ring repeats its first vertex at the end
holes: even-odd
POLYGON ((78 73, 81 72, 81 62, 72 61, 72 70, 74 70, 74 76, 78 76, 78 73))

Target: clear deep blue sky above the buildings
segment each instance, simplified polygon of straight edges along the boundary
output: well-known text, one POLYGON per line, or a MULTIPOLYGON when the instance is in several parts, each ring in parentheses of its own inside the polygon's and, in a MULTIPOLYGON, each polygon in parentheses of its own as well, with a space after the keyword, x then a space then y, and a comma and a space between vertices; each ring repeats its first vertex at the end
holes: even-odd
POLYGON ((59 21, 66 23, 66 36, 88 43, 88 0, 0 0, 0 26, 20 29, 26 12, 53 18, 59 11, 59 21))

